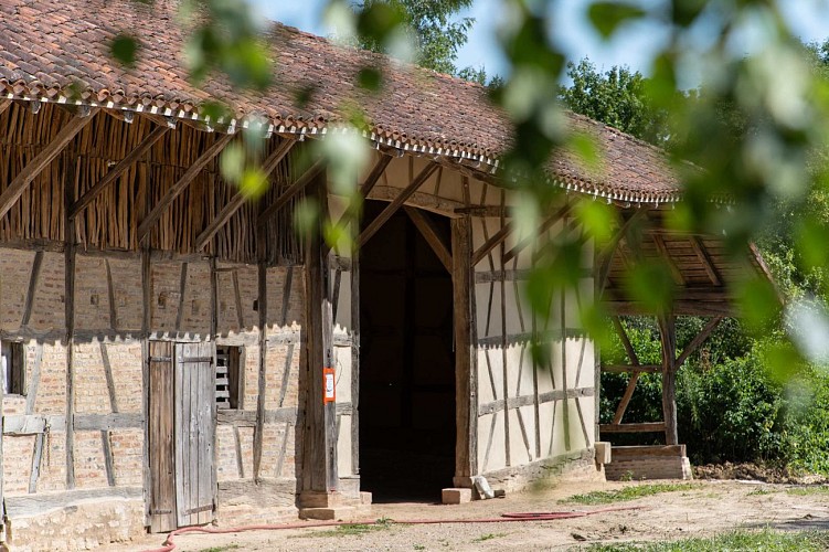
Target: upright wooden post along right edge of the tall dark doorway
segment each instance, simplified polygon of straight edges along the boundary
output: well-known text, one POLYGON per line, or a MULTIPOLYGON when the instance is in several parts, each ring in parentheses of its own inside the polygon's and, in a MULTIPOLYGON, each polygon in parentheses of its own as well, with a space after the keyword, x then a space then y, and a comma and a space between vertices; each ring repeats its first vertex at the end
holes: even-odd
POLYGON ((453 219, 451 280, 455 306, 455 485, 478 473, 477 327, 469 215, 453 219))

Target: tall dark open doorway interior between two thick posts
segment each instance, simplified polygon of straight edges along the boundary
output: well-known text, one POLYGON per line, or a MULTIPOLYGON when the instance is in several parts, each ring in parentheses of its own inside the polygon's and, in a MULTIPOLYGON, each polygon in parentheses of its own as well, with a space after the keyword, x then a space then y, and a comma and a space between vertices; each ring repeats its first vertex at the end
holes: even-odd
MULTIPOLYGON (((387 205, 368 201, 364 224, 387 205)), ((422 212, 449 245, 449 221, 422 212)), ((400 210, 360 252, 360 486, 439 500, 455 473, 451 277, 400 210)))

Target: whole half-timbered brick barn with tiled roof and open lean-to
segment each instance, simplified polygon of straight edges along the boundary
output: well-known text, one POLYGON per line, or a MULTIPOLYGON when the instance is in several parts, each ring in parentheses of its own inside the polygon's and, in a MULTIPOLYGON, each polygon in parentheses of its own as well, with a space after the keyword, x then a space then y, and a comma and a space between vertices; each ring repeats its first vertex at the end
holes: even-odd
MULTIPOLYGON (((77 549, 147 529, 340 516, 368 492, 436 498, 478 475, 506 489, 602 478, 601 363, 577 306, 604 297, 617 315, 638 311, 619 293, 628 225, 647 221, 637 255, 672 267, 674 315, 712 316, 712 328, 731 312, 740 265, 711 236, 662 227, 681 194, 655 148, 568 115, 605 167, 555 160, 551 185, 566 193, 539 232, 582 232, 578 201, 614 204, 623 223, 609 243, 585 236, 582 285, 539 319, 520 290, 532 248, 499 180, 510 126, 482 88, 278 24, 272 89, 195 88, 174 18, 160 0, 0 2, 8 542, 77 549), (142 43, 129 70, 108 55, 121 29, 142 43), (354 88, 366 64, 387 70, 378 95, 354 88), (234 115, 211 118, 210 99, 234 115), (340 124, 352 102, 370 120, 357 132, 340 124), (219 156, 263 121, 270 185, 247 201, 219 156), (326 166, 304 162, 338 134, 372 156, 355 180, 358 253, 293 223, 307 199, 341 215, 326 166)), ((746 264, 763 269, 751 252, 746 264)), ((672 381, 687 354, 677 360, 672 317, 661 326, 662 365, 631 350, 631 367, 607 369, 662 372, 665 421, 623 424, 623 401, 602 435, 657 431, 678 445, 672 381)))

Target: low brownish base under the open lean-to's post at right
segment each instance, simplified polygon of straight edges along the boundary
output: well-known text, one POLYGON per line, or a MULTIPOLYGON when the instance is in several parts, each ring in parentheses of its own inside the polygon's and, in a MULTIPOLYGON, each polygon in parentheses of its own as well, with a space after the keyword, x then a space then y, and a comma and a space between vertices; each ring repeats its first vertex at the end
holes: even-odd
POLYGON ((608 480, 693 479, 684 445, 613 447, 608 480))

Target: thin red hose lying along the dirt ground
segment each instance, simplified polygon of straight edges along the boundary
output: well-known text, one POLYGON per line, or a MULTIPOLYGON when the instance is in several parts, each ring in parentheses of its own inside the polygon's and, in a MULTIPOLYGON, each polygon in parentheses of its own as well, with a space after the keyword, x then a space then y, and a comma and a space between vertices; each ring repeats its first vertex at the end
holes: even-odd
MULTIPOLYGON (((395 524, 400 526, 421 526, 421 524, 437 524, 437 523, 502 523, 508 521, 550 521, 557 519, 571 519, 571 518, 584 518, 585 516, 593 516, 604 512, 616 512, 623 510, 638 510, 641 507, 616 507, 616 508, 602 508, 598 510, 580 511, 580 512, 507 512, 502 513, 500 518, 478 518, 478 519, 414 519, 414 520, 394 520, 395 524)), ((167 535, 161 548, 146 550, 145 552, 172 552, 176 550, 176 544, 172 539, 179 534, 185 533, 210 533, 210 534, 226 534, 226 533, 242 533, 245 531, 276 531, 281 529, 307 529, 315 527, 339 527, 339 526, 376 526, 378 520, 365 521, 318 521, 318 522, 295 522, 295 523, 280 523, 276 524, 262 524, 262 526, 244 526, 244 527, 228 527, 226 529, 212 529, 206 527, 185 527, 171 531, 167 535)))

